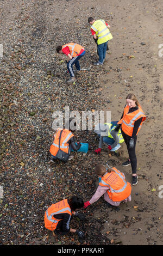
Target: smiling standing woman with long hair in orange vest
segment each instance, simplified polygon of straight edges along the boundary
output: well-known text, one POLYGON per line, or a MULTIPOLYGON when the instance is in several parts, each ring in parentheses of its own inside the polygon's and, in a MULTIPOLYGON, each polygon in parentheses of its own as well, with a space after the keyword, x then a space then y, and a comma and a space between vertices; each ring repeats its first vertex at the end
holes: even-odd
POLYGON ((134 94, 130 93, 126 97, 126 106, 120 121, 118 121, 118 126, 115 131, 118 131, 121 127, 121 133, 124 138, 124 142, 127 145, 127 150, 129 154, 129 160, 122 163, 122 166, 128 166, 131 164, 132 168, 132 184, 137 184, 137 159, 135 153, 137 133, 140 131, 143 121, 146 120, 146 115, 142 111, 142 108, 137 101, 134 94))

